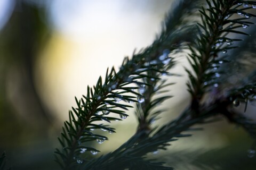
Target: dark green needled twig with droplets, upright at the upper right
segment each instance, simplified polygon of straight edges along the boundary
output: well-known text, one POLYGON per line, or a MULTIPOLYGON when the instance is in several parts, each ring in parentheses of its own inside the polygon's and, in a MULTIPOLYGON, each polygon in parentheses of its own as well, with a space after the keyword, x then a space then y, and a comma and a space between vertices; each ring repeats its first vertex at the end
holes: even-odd
MULTIPOLYGON (((241 6, 241 1, 214 0, 211 3, 206 0, 206 2, 209 8, 199 10, 201 12, 202 24, 198 23, 198 31, 201 32, 201 35, 198 36, 196 43, 190 46, 191 54, 189 54, 188 61, 194 73, 186 69, 189 75, 188 90, 192 96, 190 107, 195 114, 199 114, 199 105, 209 87, 217 88, 220 85, 219 77, 222 73, 217 70, 218 65, 222 64, 223 61, 218 57, 218 53, 226 53, 227 50, 236 48, 229 46, 236 40, 228 37, 229 33, 248 35, 245 32, 237 31, 236 28, 238 27, 230 26, 236 23, 239 27, 248 27, 253 23, 243 20, 254 16, 251 13, 245 12, 244 8, 238 8, 241 6), (229 19, 234 13, 241 13, 244 18, 229 19), (226 41, 227 45, 219 46, 224 41, 226 41)), ((251 1, 246 3, 255 5, 255 2, 251 1)))

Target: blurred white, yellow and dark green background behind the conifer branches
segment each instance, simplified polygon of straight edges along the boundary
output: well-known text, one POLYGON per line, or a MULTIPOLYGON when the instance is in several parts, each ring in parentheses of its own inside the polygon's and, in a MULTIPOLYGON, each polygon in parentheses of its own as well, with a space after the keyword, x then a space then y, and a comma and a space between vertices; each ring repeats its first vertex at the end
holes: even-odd
MULTIPOLYGON (((58 169, 53 151, 74 97, 85 95, 107 67, 118 69, 124 56, 150 45, 173 2, 0 0, 0 151, 12 169, 58 169)), ((170 80, 177 84, 164 104, 172 111, 165 120, 189 102, 185 55, 177 62, 172 72, 184 76, 170 80)), ((114 123, 117 133, 95 147, 103 153, 117 148, 136 125, 131 111, 114 123)), ((158 156, 177 169, 255 169, 255 157, 247 157, 253 141, 242 128, 225 119, 202 126, 158 156)))

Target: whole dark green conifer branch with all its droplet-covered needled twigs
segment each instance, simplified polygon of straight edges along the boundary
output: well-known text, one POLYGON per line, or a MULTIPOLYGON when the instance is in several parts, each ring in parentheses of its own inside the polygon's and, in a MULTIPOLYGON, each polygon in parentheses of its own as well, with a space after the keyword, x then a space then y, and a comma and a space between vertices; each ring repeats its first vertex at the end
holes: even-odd
MULTIPOLYGON (((237 100, 245 102, 253 100, 255 83, 231 89, 226 96, 215 96, 211 104, 203 98, 221 86, 219 70, 222 63, 229 62, 220 55, 237 48, 233 42, 241 39, 233 38, 235 34, 250 36, 239 28, 247 28, 253 24, 247 21, 255 15, 248 12, 256 5, 253 1, 236 0, 206 0, 207 5, 198 7, 201 1, 179 1, 166 15, 162 32, 153 44, 131 58, 125 57, 119 71, 114 67, 107 70, 105 79, 99 78, 93 87, 87 87, 87 95, 76 98, 77 107, 69 112, 69 121, 63 126, 61 149, 56 149, 56 161, 62 169, 172 169, 146 157, 149 152, 158 149, 166 150, 171 141, 181 137, 189 137, 183 133, 201 129, 190 128, 197 123, 207 123, 206 118, 214 115, 225 115, 230 122, 242 125, 255 137, 255 123, 248 121, 243 115, 230 111, 237 100), (241 4, 246 3, 246 7, 241 4), (189 22, 190 14, 199 8, 201 22, 195 25, 189 22), (234 18, 239 14, 242 18, 234 18), (196 33, 197 32, 197 33, 196 33), (187 36, 187 35, 191 36, 187 36), (159 118, 163 109, 157 106, 172 96, 165 95, 167 88, 173 83, 167 83, 163 76, 174 74, 169 70, 175 65, 172 56, 180 50, 188 48, 188 62, 192 70, 186 68, 189 76, 187 83, 191 94, 191 105, 170 123, 155 128, 151 123, 159 118), (159 94, 161 94, 159 96, 159 94), (126 104, 119 101, 125 101, 126 104), (90 141, 102 143, 108 138, 94 133, 94 129, 102 129, 114 133, 115 129, 101 121, 124 120, 126 111, 136 104, 138 118, 137 132, 121 147, 99 158, 85 159, 81 157, 86 152, 95 155, 98 149, 87 146, 90 141), (111 113, 111 114, 110 114, 111 113), (115 114, 121 118, 116 118, 115 114)), ((229 58, 232 60, 232 58, 229 58)), ((246 109, 246 107, 245 107, 246 109)))

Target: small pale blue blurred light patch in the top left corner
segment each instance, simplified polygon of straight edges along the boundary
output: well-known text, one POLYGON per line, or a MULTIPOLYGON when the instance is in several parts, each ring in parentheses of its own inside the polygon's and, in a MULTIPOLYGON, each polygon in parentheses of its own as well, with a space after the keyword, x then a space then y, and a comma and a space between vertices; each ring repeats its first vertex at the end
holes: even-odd
POLYGON ((4 25, 9 21, 13 12, 15 1, 13 0, 1 0, 0 1, 0 31, 4 25))

